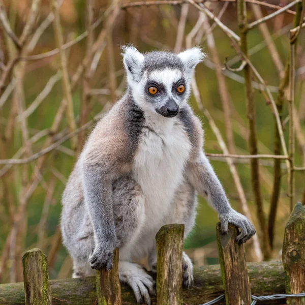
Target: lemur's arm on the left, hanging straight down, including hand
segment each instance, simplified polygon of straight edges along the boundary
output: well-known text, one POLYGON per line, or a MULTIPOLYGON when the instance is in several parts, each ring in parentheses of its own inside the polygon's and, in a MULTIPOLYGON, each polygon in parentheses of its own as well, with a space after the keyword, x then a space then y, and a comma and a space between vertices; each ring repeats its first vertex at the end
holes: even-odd
POLYGON ((113 137, 93 137, 93 140, 88 140, 81 156, 84 201, 93 223, 95 239, 95 248, 89 256, 89 262, 95 269, 111 269, 112 253, 117 247, 112 182, 124 168, 119 145, 113 137))

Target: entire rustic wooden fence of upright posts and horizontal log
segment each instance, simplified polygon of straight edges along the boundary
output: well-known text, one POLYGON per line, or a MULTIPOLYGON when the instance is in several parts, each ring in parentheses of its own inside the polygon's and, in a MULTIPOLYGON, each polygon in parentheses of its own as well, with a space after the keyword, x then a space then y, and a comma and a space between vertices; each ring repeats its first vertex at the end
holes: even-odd
MULTIPOLYGON (((298 203, 287 223, 283 265, 279 261, 246 263, 243 245, 236 241, 238 229, 229 226, 221 234, 217 226, 220 266, 194 269, 194 285, 182 289, 183 225, 166 225, 157 240, 157 305, 203 304, 225 293, 218 304, 250 305, 251 295, 301 293, 305 291, 305 209, 298 203)), ((0 285, 1 305, 120 305, 136 304, 133 292, 118 279, 118 250, 110 271, 98 270, 96 278, 49 281, 47 257, 39 249, 23 256, 24 283, 0 285)), ((263 304, 284 304, 268 300, 263 304)), ((289 297, 287 304, 305 304, 305 298, 289 297)))

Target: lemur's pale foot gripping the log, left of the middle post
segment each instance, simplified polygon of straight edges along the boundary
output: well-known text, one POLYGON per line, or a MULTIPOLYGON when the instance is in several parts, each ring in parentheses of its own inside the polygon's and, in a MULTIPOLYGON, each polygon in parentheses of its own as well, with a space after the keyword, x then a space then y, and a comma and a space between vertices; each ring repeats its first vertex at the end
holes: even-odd
POLYGON ((128 284, 134 291, 138 303, 143 300, 147 305, 151 304, 150 295, 155 295, 155 281, 138 264, 119 262, 119 279, 128 284))

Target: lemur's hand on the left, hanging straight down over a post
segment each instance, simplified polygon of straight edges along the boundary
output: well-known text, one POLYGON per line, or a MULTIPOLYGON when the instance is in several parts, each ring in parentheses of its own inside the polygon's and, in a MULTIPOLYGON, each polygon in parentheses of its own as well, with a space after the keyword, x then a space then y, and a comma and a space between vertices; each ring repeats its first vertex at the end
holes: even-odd
POLYGON ((98 245, 89 255, 90 267, 93 269, 112 268, 112 257, 115 246, 111 244, 98 245))

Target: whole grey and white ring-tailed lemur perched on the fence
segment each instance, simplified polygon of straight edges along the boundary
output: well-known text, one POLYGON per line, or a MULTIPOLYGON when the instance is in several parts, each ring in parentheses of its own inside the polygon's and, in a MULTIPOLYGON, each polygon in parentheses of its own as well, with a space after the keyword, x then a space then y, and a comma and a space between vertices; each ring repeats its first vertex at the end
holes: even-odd
MULTIPOLYGON (((200 120, 188 104, 200 48, 179 54, 145 54, 124 47, 125 95, 89 135, 63 194, 63 242, 73 259, 73 277, 112 267, 119 248, 119 278, 138 302, 150 304, 154 280, 135 261, 148 257, 156 270, 155 236, 161 226, 195 224, 197 192, 217 211, 221 230, 240 228, 237 241, 256 233, 229 204, 203 152, 200 120)), ((183 253, 183 282, 193 266, 183 253)))

